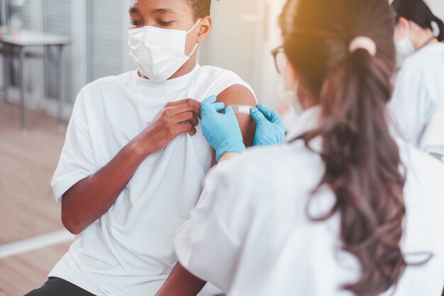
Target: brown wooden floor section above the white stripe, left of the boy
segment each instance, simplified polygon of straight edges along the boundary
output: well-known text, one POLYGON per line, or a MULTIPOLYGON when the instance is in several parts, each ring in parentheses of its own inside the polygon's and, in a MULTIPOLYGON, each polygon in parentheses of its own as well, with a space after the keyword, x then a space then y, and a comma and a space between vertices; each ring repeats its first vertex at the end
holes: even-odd
POLYGON ((0 103, 0 244, 62 228, 50 188, 65 132, 57 120, 28 111, 23 134, 18 108, 0 103))

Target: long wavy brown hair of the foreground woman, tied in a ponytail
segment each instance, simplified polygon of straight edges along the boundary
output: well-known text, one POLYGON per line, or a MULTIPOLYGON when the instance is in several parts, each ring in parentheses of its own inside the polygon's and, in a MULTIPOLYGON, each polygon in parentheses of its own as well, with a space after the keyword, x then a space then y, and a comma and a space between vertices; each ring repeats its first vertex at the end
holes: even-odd
POLYGON ((309 148, 311 140, 323 140, 326 171, 318 189, 328 186, 336 197, 331 211, 311 219, 340 214, 343 250, 362 271, 343 289, 380 295, 407 266, 399 246, 406 178, 386 120, 396 69, 392 11, 387 0, 288 0, 280 25, 299 87, 322 110, 320 126, 304 137, 309 148), (370 40, 376 51, 350 50, 357 38, 370 40))

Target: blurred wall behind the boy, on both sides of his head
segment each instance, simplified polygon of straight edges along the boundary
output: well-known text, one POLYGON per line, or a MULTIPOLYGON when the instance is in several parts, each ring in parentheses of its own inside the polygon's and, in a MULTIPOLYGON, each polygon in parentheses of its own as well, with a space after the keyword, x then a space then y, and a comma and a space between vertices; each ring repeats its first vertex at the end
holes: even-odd
MULTIPOLYGON (((85 84, 135 69, 127 46, 129 2, 2 0, 1 17, 7 18, 11 34, 32 30, 70 41, 62 55, 65 119, 69 119, 72 103, 85 84)), ((282 7, 279 2, 284 1, 213 1, 213 32, 199 50, 199 62, 235 71, 252 85, 257 96, 266 98, 274 89, 262 81, 270 81, 267 74, 275 72, 270 51, 279 45, 277 15, 282 7)), ((17 71, 15 64, 17 62, 12 65, 13 72, 17 71)), ((55 64, 41 59, 27 60, 25 72, 26 90, 33 95, 28 96, 28 107, 56 115, 57 104, 51 99, 57 93, 57 84, 53 83, 57 78, 55 64)), ((16 79, 12 79, 11 86, 10 100, 13 101, 16 79)))

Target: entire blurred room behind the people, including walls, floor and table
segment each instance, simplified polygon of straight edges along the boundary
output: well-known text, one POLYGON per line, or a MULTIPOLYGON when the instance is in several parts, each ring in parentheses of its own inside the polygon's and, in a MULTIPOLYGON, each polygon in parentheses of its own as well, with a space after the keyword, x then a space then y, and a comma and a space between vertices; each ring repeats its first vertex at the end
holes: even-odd
MULTIPOLYGON (((443 0, 427 2, 444 18, 443 0)), ((63 230, 50 179, 79 90, 135 69, 127 47, 129 4, 0 0, 0 296, 43 283, 73 239, 63 230)), ((270 52, 280 45, 283 4, 213 0, 213 32, 199 50, 200 64, 233 70, 273 108, 279 76, 270 52)))

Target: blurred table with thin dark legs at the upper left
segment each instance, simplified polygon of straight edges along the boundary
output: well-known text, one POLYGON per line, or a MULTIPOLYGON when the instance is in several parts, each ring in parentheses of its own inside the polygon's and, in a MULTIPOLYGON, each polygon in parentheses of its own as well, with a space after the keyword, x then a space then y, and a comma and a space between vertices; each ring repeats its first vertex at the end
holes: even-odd
POLYGON ((26 98, 25 98, 25 74, 24 65, 26 58, 53 58, 57 64, 57 96, 58 117, 60 122, 63 115, 63 94, 62 94, 62 52, 65 46, 70 45, 70 39, 62 36, 46 33, 22 30, 18 34, 0 36, 0 55, 4 57, 4 104, 8 104, 8 86, 10 84, 9 64, 13 57, 18 58, 18 85, 20 89, 21 106, 21 127, 26 130, 26 98), (32 50, 35 47, 45 47, 45 54, 38 55, 32 50), (55 54, 52 57, 46 55, 47 48, 53 47, 55 54))

